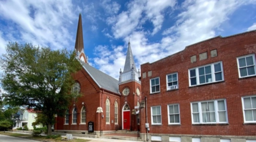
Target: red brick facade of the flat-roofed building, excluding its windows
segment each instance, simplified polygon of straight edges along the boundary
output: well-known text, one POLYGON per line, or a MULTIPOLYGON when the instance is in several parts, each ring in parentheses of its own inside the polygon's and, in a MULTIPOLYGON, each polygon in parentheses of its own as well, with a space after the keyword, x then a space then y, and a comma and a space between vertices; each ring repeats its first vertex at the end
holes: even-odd
MULTIPOLYGON (((240 79, 237 57, 256 53, 256 31, 230 37, 216 37, 194 45, 183 51, 163 58, 152 64, 141 65, 141 73, 152 71, 152 76, 142 78, 142 98, 147 97, 149 133, 204 134, 204 135, 255 135, 256 125, 244 125, 242 96, 256 94, 256 76, 240 79), (218 56, 211 57, 210 51, 217 49, 218 56), (199 54, 207 52, 208 58, 199 61, 199 54), (191 56, 197 61, 191 63, 191 56), (202 86, 189 87, 188 69, 222 61, 224 81, 202 86), (178 72, 178 90, 166 91, 166 74, 178 72), (160 93, 150 94, 150 78, 160 77, 160 93), (228 125, 192 125, 191 102, 226 99, 228 125), (181 125, 168 125, 167 105, 180 104, 181 125), (151 125, 151 106, 161 105, 162 125, 151 125)), ((141 117, 146 118, 145 108, 141 117)), ((141 132, 146 133, 145 120, 141 132)))

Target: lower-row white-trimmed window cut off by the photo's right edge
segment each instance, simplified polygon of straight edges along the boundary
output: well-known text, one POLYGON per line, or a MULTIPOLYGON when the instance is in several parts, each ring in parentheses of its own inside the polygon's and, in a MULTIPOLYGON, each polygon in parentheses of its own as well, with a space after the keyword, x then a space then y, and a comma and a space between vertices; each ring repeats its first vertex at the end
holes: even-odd
POLYGON ((256 96, 242 97, 242 107, 245 123, 256 122, 256 96))

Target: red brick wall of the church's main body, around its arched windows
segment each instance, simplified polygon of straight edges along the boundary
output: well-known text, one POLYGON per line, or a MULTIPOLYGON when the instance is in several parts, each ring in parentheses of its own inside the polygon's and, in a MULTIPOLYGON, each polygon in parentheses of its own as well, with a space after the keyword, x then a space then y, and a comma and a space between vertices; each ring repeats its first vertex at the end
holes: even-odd
MULTIPOLYGON (((74 79, 79 82, 81 86, 81 93, 83 94, 80 98, 78 98, 77 102, 73 102, 71 106, 69 106, 69 125, 64 125, 64 118, 57 117, 57 129, 56 130, 88 130, 88 122, 94 122, 94 130, 116 130, 116 127, 111 123, 110 125, 106 125, 106 120, 100 117, 97 122, 96 117, 97 107, 101 106, 103 109, 103 113, 106 116, 105 106, 106 106, 106 97, 110 98, 110 122, 114 120, 114 101, 118 101, 118 105, 120 105, 120 96, 118 94, 113 94, 111 92, 103 91, 100 89, 97 84, 93 81, 93 79, 89 76, 89 74, 84 70, 80 70, 78 73, 74 75, 74 79), (103 95, 102 95, 103 93, 103 95), (102 99, 103 96, 103 99, 102 99), (103 100, 103 103, 102 103, 103 100), (86 106, 86 125, 80 124, 80 111, 82 109, 82 103, 86 106), (74 108, 74 104, 78 110, 78 119, 77 124, 72 124, 72 110, 74 108), (103 106, 102 106, 103 105, 103 106), (101 121, 101 122, 100 122, 101 121), (99 127, 98 127, 99 126, 99 127), (100 127, 101 126, 101 127, 100 127)), ((120 106, 118 106, 120 108, 120 106)))

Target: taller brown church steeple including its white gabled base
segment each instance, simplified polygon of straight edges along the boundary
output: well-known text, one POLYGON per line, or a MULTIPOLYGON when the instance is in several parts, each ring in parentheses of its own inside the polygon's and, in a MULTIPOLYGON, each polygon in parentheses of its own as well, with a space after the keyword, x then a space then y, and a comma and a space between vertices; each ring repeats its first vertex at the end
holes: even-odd
POLYGON ((76 32, 75 50, 78 58, 81 61, 88 63, 88 57, 85 56, 84 46, 83 46, 83 27, 82 27, 81 13, 79 14, 79 20, 78 20, 78 26, 77 26, 77 32, 76 32))

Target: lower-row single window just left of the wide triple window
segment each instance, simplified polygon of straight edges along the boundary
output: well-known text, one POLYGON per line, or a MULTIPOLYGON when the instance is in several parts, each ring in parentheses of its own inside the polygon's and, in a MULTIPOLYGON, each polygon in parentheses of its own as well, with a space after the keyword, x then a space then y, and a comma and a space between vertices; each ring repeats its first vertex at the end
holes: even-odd
POLYGON ((180 124, 179 104, 168 105, 168 124, 180 124))

